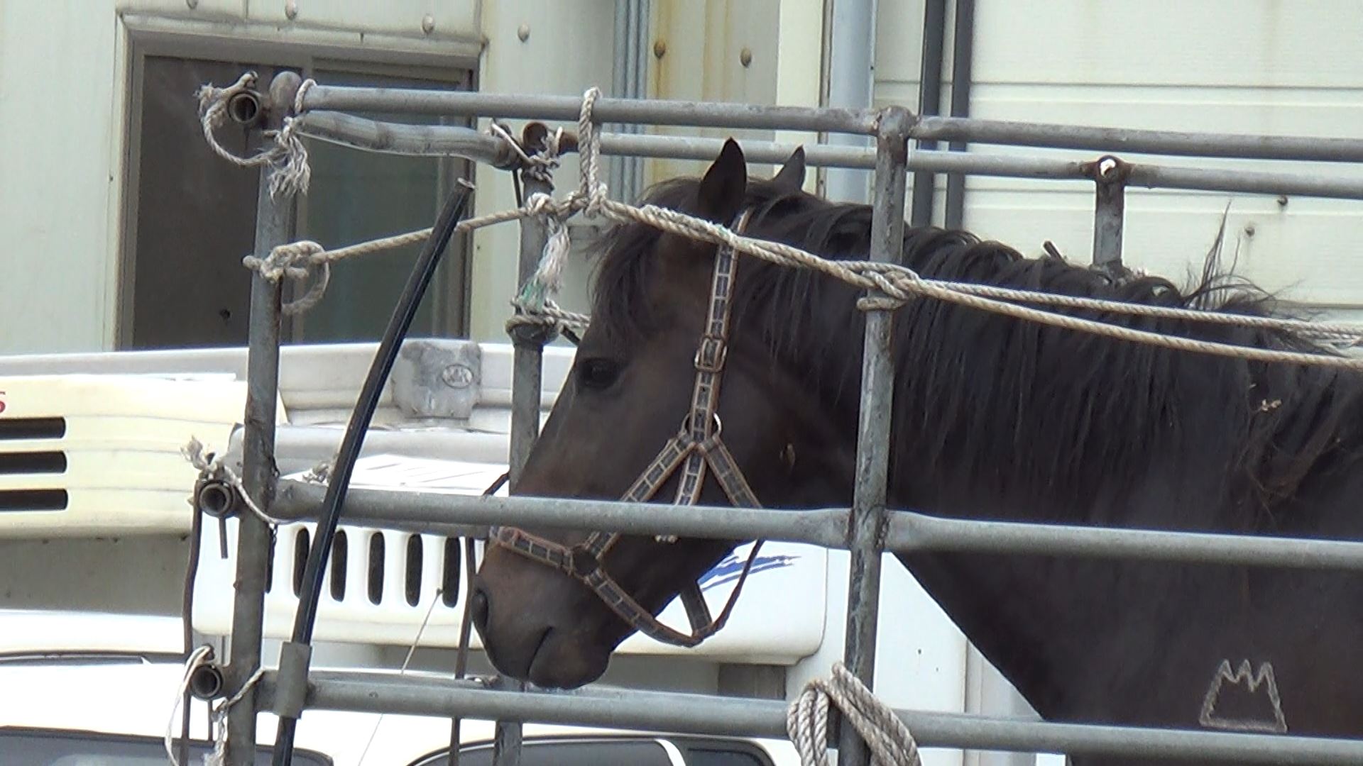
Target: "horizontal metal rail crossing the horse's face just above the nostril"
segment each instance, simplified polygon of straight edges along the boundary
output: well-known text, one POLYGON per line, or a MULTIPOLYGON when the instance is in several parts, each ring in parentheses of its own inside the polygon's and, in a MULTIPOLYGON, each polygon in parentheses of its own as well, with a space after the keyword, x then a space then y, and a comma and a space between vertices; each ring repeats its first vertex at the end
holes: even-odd
MULTIPOLYGON (((316 484, 281 481, 271 510, 282 518, 309 518, 323 493, 324 488, 316 484)), ((781 540, 837 549, 846 549, 848 523, 845 508, 782 511, 365 488, 350 489, 342 514, 354 523, 442 534, 459 525, 481 529, 481 525, 515 523, 711 540, 781 540)), ((895 552, 975 551, 1363 571, 1363 542, 1343 540, 949 519, 915 511, 889 515, 885 548, 895 552)))

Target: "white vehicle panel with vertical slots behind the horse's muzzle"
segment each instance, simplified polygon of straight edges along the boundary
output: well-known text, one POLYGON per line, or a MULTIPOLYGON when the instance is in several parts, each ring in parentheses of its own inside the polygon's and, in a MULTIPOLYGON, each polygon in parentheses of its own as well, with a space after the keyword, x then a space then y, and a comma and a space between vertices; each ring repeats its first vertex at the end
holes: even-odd
MULTIPOLYGON (((504 465, 478 465, 457 461, 418 461, 375 455, 356 463, 352 487, 388 489, 440 491, 478 495, 506 470, 504 465)), ((503 488, 499 495, 506 495, 503 488)), ((228 522, 228 557, 218 556, 218 525, 203 529, 203 551, 195 582, 195 630, 209 635, 225 635, 232 626, 229 593, 236 577, 236 529, 228 522)), ((298 598, 294 592, 296 572, 301 572, 304 555, 300 545, 307 530, 307 544, 313 542, 315 525, 281 526, 273 553, 270 592, 266 594, 266 635, 284 639, 293 627, 298 598)), ((326 570, 326 583, 318 605, 315 637, 318 641, 364 642, 395 646, 458 646, 459 620, 463 613, 462 566, 459 590, 454 598, 443 598, 439 592, 446 568, 446 538, 420 536, 420 587, 413 604, 408 598, 408 545, 410 533, 378 530, 342 523, 345 533, 345 590, 339 598, 331 590, 335 549, 326 570), (383 540, 382 578, 376 579, 371 597, 371 541, 383 540), (429 619, 427 617, 429 615, 429 619), (425 628, 421 628, 425 622, 425 628), (420 637, 418 637, 420 630, 420 637)), ((462 553, 462 542, 459 544, 462 553)), ((736 570, 741 567, 750 547, 743 545, 716 567, 702 582, 713 613, 718 613, 735 585, 736 570)), ((477 545, 481 562, 481 542, 477 545)), ((827 552, 818 547, 767 542, 755 562, 743 596, 728 626, 699 647, 679 649, 646 637, 631 637, 620 652, 624 654, 675 654, 705 657, 716 661, 791 664, 819 647, 825 624, 825 582, 827 552), (791 594, 799 593, 795 605, 791 594)), ((686 612, 680 604, 669 605, 662 620, 686 627, 686 612)), ((481 647, 477 634, 470 647, 481 647)))

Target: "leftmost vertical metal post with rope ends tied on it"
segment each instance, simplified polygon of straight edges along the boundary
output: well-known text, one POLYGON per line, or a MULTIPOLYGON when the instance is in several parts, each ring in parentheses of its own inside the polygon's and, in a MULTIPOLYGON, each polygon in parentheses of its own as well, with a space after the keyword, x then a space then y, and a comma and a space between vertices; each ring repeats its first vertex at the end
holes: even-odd
MULTIPOLYGON (((293 105, 301 79, 281 72, 270 83, 269 127, 278 129, 293 105)), ((264 258, 293 236, 293 200, 270 196, 271 168, 260 169, 256 198, 255 255, 264 258)), ((241 484, 256 506, 269 512, 275 492, 274 436, 279 391, 279 308, 282 284, 259 273, 251 275, 251 320, 247 339, 247 405, 241 444, 241 484)), ((232 646, 225 668, 228 694, 260 667, 264 632, 264 586, 271 530, 254 514, 237 517, 237 577, 232 609, 232 646)), ((226 766, 254 766, 256 761, 256 703, 251 690, 228 711, 226 766)))

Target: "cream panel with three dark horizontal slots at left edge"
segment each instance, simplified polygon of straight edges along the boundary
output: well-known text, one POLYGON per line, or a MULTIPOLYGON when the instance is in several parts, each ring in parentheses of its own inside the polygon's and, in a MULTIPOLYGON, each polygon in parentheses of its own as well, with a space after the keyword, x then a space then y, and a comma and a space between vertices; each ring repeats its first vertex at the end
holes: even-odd
POLYGON ((245 406, 245 384, 224 376, 38 375, 0 378, 0 537, 188 532, 198 470, 181 450, 222 450, 245 406), (25 438, 30 418, 60 431, 25 438), (53 455, 60 473, 33 466, 53 455), (23 492, 65 492, 64 507, 23 492))

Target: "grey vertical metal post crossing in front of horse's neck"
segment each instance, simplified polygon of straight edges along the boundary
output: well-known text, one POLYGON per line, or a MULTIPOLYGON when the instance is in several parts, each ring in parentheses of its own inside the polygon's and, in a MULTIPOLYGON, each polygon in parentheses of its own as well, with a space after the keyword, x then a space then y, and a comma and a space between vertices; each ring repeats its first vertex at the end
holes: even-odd
MULTIPOLYGON (((871 217, 871 259, 898 262, 904 252, 904 187, 909 158, 909 128, 915 117, 891 106, 880 117, 875 151, 875 210, 871 217)), ((861 414, 857 425, 856 489, 848 525, 851 552, 848 622, 842 660, 861 683, 875 675, 875 631, 880 597, 889 485, 890 421, 894 393, 894 361, 890 354, 894 315, 870 311, 861 360, 861 414)), ((870 763, 870 751, 856 729, 840 728, 840 766, 870 763)))

